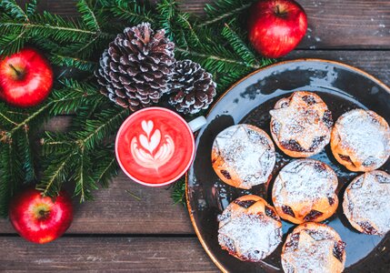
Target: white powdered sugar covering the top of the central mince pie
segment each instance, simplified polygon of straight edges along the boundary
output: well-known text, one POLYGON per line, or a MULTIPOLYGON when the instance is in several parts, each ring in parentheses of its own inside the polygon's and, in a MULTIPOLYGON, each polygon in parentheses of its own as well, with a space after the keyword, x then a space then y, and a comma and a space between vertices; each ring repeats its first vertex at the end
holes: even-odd
POLYGON ((294 207, 302 202, 313 204, 318 199, 334 197, 336 187, 335 172, 325 163, 298 159, 287 164, 275 179, 275 206, 294 207))

